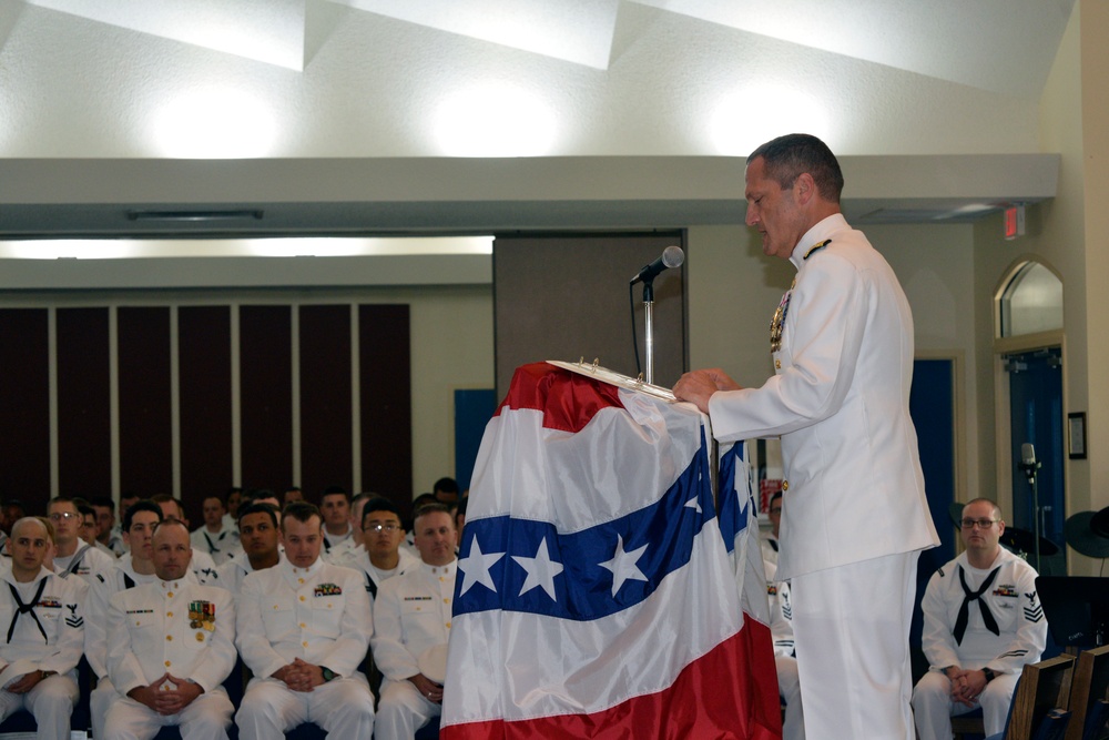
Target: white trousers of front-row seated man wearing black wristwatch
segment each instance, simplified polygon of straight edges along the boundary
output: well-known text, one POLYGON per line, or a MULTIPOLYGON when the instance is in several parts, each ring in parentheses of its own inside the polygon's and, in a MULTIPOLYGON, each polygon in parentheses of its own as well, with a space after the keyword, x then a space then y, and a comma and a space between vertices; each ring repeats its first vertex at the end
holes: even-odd
POLYGON ((235 722, 242 740, 273 740, 305 722, 334 740, 362 740, 374 732, 374 697, 362 673, 312 691, 293 691, 275 678, 253 678, 235 722))

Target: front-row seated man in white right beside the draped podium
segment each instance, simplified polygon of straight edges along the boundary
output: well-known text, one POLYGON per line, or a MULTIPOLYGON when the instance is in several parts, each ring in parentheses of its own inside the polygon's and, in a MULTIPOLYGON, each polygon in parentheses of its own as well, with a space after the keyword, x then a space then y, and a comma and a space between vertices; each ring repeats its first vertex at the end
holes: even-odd
POLYGON ((409 740, 442 712, 444 676, 429 677, 425 670, 435 662, 427 656, 445 649, 450 635, 458 566, 455 523, 446 506, 429 504, 416 515, 413 531, 423 564, 381 584, 374 602, 374 661, 385 676, 377 709, 379 740, 409 740))

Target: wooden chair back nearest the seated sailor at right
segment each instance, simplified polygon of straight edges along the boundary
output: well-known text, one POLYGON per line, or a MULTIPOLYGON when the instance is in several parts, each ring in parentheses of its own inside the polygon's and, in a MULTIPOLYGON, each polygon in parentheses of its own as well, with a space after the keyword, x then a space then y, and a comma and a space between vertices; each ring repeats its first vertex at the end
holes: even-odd
POLYGON ((1070 719, 1070 712, 1064 708, 1070 698, 1074 672, 1075 657, 1067 655, 1025 666, 1005 732, 995 738, 1064 740, 1070 719))

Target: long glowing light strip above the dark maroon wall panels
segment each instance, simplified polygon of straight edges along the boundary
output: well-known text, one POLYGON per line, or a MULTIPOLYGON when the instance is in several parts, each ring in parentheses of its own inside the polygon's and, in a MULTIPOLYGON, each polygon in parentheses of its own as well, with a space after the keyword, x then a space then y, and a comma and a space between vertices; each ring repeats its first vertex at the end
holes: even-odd
POLYGON ((489 255, 492 236, 0 241, 3 260, 489 255))

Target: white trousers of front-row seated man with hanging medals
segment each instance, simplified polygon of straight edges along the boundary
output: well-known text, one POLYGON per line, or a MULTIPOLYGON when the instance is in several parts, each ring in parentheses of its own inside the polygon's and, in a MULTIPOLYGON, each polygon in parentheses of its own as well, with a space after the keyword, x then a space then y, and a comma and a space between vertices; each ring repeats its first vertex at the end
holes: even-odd
POLYGON ((146 704, 115 695, 102 737, 106 740, 150 740, 161 728, 175 724, 181 740, 227 740, 234 711, 223 687, 205 691, 176 714, 159 714, 146 704))

